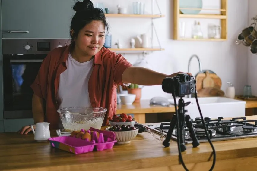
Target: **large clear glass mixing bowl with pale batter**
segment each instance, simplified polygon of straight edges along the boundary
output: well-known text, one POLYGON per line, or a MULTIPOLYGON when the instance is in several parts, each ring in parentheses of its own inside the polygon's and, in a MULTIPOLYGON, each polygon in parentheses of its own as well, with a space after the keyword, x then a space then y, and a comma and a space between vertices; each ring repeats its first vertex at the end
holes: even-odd
POLYGON ((102 107, 68 107, 58 109, 64 129, 101 129, 107 109, 102 107))

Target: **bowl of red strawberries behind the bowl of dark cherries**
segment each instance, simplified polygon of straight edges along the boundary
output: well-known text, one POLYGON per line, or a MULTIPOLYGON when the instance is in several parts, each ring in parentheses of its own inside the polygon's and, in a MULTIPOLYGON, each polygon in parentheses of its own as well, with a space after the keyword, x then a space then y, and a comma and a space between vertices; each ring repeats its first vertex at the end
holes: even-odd
POLYGON ((119 125, 119 126, 131 125, 131 126, 134 126, 135 122, 136 122, 135 119, 132 118, 131 115, 127 115, 125 113, 122 113, 120 115, 113 115, 113 117, 108 118, 108 121, 109 121, 110 126, 115 126, 115 125, 119 125))

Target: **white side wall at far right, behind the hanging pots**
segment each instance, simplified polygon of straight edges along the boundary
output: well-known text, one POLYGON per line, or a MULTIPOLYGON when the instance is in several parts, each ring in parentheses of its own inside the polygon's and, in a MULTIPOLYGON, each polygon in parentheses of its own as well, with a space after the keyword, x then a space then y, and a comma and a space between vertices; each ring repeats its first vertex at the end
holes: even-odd
MULTIPOLYGON (((251 20, 252 17, 257 15, 257 1, 256 0, 249 0, 248 2, 248 25, 253 23, 251 20)), ((256 29, 256 27, 255 27, 256 29)), ((257 55, 252 54, 250 49, 245 47, 248 51, 248 84, 252 87, 252 95, 257 95, 257 55)))

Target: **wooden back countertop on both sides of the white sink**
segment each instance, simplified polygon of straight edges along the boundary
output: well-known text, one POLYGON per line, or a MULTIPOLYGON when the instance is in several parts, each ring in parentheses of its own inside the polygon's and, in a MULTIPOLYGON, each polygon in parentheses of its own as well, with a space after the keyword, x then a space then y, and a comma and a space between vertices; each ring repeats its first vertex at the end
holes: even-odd
MULTIPOLYGON (((236 100, 242 100, 235 98, 236 100)), ((246 101, 246 108, 257 108, 257 100, 242 100, 246 101)), ((140 103, 133 103, 132 105, 117 105, 117 114, 121 113, 165 113, 175 112, 175 107, 151 106, 150 100, 141 100, 140 103)))

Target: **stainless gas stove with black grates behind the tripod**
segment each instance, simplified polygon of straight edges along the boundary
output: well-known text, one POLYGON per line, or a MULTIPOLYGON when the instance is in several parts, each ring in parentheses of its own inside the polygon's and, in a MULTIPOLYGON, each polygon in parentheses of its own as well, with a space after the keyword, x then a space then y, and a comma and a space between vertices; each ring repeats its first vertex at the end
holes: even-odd
MULTIPOLYGON (((201 121, 201 117, 192 120, 193 128, 199 142, 208 142, 207 135, 201 121)), ((257 120, 246 120, 246 117, 232 118, 231 120, 224 120, 223 117, 211 120, 210 117, 205 117, 205 125, 207 128, 208 136, 211 141, 224 141, 241 138, 257 137, 257 120)), ((149 129, 157 131, 162 130, 166 135, 169 128, 169 123, 157 123, 156 125, 147 125, 149 129)), ((191 144, 192 138, 190 137, 189 130, 185 123, 185 143, 191 144)), ((177 127, 174 128, 171 139, 177 140, 177 127)))

